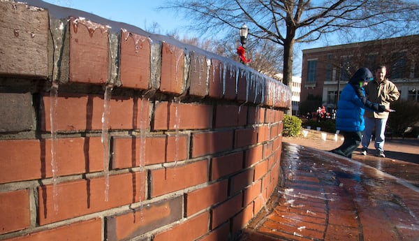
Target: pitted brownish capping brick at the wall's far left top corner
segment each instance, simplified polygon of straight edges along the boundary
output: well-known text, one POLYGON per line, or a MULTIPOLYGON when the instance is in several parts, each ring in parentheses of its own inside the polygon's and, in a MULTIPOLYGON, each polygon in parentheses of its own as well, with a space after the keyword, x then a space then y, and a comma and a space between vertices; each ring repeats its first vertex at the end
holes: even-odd
POLYGON ((1 1, 0 74, 46 78, 48 75, 47 10, 33 10, 24 3, 1 1))

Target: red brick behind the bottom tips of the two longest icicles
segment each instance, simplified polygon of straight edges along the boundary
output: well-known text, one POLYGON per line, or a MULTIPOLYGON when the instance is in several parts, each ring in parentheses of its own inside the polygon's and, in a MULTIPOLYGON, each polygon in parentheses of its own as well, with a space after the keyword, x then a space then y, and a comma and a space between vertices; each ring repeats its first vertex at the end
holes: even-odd
POLYGON ((112 207, 137 203, 145 196, 145 189, 138 185, 145 183, 145 177, 141 175, 143 173, 111 175, 108 201, 105 201, 104 177, 57 184, 56 200, 52 184, 39 187, 39 224, 50 224, 112 207))

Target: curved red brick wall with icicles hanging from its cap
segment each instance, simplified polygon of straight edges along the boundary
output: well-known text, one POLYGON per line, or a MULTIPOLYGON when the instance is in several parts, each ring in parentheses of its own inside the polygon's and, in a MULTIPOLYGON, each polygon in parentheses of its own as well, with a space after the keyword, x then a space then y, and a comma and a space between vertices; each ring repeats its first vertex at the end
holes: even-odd
POLYGON ((29 2, 0 2, 0 240, 233 239, 277 187, 291 90, 29 2))

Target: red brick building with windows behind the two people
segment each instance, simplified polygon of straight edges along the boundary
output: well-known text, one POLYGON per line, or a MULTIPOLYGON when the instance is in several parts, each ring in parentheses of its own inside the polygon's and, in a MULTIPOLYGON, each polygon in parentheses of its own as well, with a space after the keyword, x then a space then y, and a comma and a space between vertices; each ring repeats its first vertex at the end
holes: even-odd
POLYGON ((360 67, 374 73, 378 64, 387 67, 400 99, 419 100, 419 35, 413 35, 302 50, 300 101, 321 99, 331 112, 351 75, 360 67))

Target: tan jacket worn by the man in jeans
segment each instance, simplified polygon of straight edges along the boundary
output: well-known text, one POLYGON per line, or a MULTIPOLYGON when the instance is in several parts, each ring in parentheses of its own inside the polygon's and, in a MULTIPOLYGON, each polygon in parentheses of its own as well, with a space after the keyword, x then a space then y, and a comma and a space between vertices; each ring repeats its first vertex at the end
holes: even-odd
MULTIPOLYGON (((396 85, 388 79, 385 79, 380 83, 377 83, 376 80, 372 80, 368 82, 368 85, 365 86, 364 89, 365 95, 369 101, 385 105, 385 108, 390 108, 390 102, 397 101, 400 96, 396 85)), ((378 113, 366 110, 365 117, 386 119, 388 118, 388 112, 378 113)))

